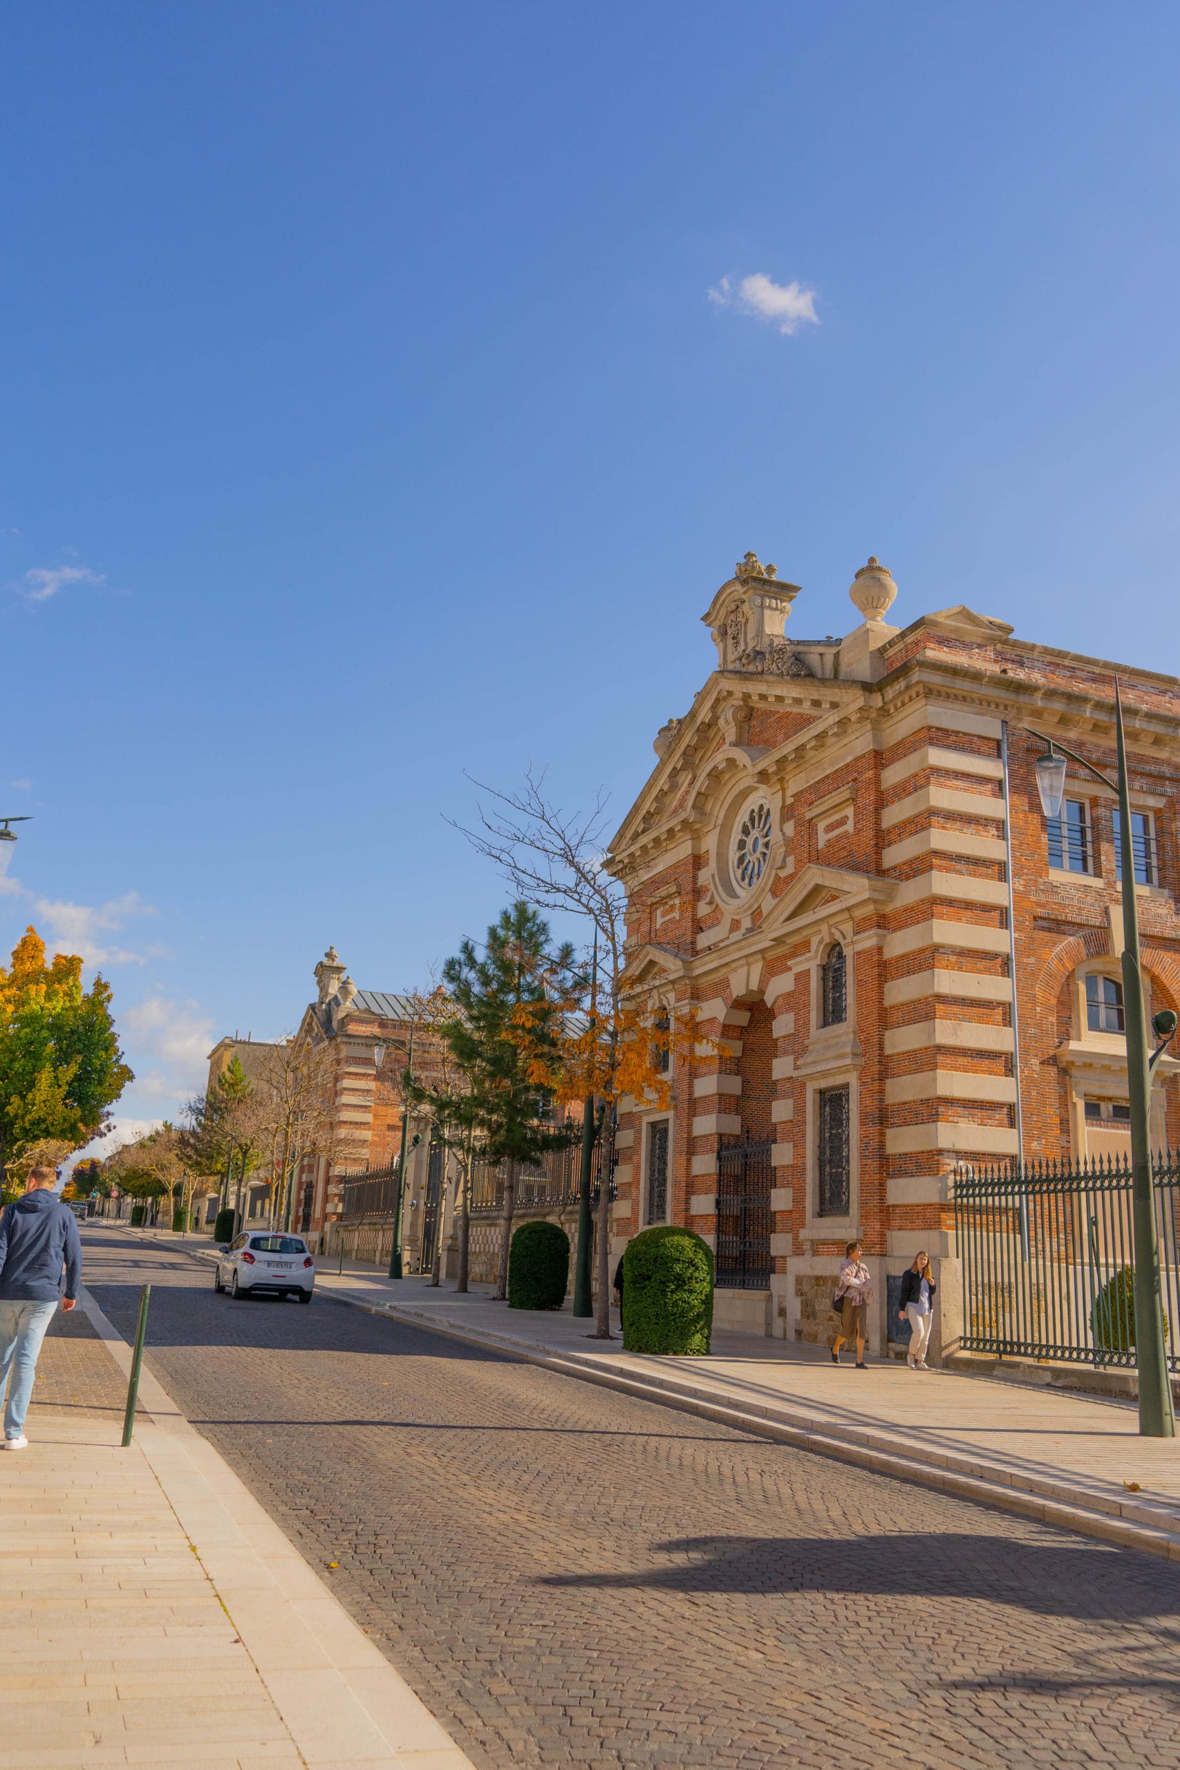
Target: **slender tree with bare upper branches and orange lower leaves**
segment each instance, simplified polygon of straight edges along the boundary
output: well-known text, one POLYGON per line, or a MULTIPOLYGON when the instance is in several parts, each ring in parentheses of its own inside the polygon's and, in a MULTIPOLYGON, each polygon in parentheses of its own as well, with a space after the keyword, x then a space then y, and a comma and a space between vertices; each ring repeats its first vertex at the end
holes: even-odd
MULTIPOLYGON (((476 782, 479 784, 479 782, 476 782)), ((596 1308, 594 1338, 610 1340, 610 1186, 619 1101, 633 1096, 660 1110, 670 1101, 669 1050, 685 1048, 686 1025, 662 1023, 626 989, 626 894, 605 871, 605 795, 589 812, 564 812, 543 793, 543 777, 525 773, 517 793, 481 788, 490 809, 479 807, 479 828, 464 835, 494 860, 513 889, 540 910, 561 910, 589 920, 596 935, 593 965, 563 977, 561 1050, 534 1050, 533 1080, 559 1099, 594 1099, 601 1115, 601 1175, 594 1230, 596 1308)), ((460 825, 462 828, 462 825, 460 825)), ((524 1004, 517 1012, 520 1037, 529 1039, 524 1004)))

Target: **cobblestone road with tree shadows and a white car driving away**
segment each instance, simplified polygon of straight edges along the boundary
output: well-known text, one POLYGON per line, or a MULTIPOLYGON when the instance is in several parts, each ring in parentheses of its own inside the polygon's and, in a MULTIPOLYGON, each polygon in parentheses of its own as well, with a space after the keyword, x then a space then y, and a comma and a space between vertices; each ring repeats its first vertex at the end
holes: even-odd
POLYGON ((1169 1563, 85 1246, 124 1335, 161 1287, 156 1375, 481 1766, 1180 1766, 1169 1563))

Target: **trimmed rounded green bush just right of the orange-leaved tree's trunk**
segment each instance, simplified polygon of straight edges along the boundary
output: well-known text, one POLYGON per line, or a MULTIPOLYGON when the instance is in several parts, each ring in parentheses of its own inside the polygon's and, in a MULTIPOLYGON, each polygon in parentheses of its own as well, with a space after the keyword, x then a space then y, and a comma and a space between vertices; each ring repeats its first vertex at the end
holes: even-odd
POLYGON ((640 1230, 623 1255, 623 1347, 704 1358, 713 1333, 713 1250, 690 1228, 640 1230))

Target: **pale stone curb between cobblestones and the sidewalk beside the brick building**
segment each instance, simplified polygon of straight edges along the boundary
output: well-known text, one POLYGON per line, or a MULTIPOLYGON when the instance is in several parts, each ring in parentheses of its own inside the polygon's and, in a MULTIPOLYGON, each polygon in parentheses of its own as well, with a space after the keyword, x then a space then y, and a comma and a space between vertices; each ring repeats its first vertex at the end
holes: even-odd
MULTIPOLYGON (((152 1239, 163 1241, 156 1235, 152 1239)), ((168 1243, 168 1246, 175 1244, 168 1243)), ((180 1248, 179 1251, 189 1253, 195 1260, 209 1260, 214 1255, 212 1248, 180 1248)), ((906 1441, 899 1451, 899 1439, 893 1432, 877 1432, 870 1427, 833 1428, 830 1421, 789 1405, 743 1407, 720 1400, 716 1389, 676 1382, 655 1372, 633 1377, 600 1359, 582 1358, 577 1352, 554 1352, 552 1347, 536 1340, 487 1333, 449 1317, 425 1317, 414 1306, 377 1303, 336 1289, 324 1290, 322 1296, 345 1303, 349 1308, 366 1310, 370 1315, 386 1315, 428 1333, 441 1333, 449 1340, 462 1340, 465 1345, 487 1347, 529 1365, 541 1365, 566 1377, 598 1382, 639 1400, 678 1407, 681 1412, 713 1420, 716 1425, 755 1432, 796 1450, 851 1462, 874 1474, 888 1474, 893 1480, 932 1487, 962 1499, 977 1499, 982 1504, 1038 1519, 1083 1536, 1099 1536, 1102 1542, 1125 1549, 1143 1549, 1148 1554, 1180 1561, 1180 1513, 1169 1506, 1122 1501, 1097 1489, 1070 1485, 1067 1480, 1054 1481, 978 1457, 932 1450, 913 1439, 906 1441)))

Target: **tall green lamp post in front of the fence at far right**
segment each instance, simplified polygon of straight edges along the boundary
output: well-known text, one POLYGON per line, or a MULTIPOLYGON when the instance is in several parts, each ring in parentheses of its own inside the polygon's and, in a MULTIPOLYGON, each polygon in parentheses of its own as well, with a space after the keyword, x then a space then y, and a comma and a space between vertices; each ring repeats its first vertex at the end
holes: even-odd
MULTIPOLYGON (((1176 1030, 1171 1011, 1157 1014, 1152 1030, 1162 1041, 1148 1057, 1146 1005, 1143 970, 1139 963, 1139 906, 1136 903, 1134 843, 1130 835, 1130 786, 1127 781, 1127 740, 1123 733, 1123 703, 1115 681, 1115 736, 1118 749, 1118 782, 1107 779, 1084 756, 1047 738, 1042 731, 1024 727, 1049 749, 1037 759, 1037 793, 1046 818, 1061 816, 1065 798, 1065 758, 1118 793, 1118 843, 1123 874, 1123 1032, 1127 1035, 1127 1099, 1130 1106, 1130 1234, 1134 1248, 1134 1313, 1136 1363, 1139 1366, 1139 1434, 1143 1437, 1175 1437, 1176 1414, 1168 1379, 1168 1351, 1164 1347, 1164 1308, 1159 1283, 1159 1241, 1155 1235, 1155 1197, 1152 1188, 1152 1069, 1164 1044, 1176 1030), (1061 752, 1058 756, 1058 750, 1061 752)), ((1015 979, 1012 979, 1015 989, 1015 979)))

